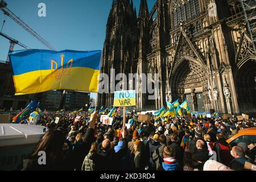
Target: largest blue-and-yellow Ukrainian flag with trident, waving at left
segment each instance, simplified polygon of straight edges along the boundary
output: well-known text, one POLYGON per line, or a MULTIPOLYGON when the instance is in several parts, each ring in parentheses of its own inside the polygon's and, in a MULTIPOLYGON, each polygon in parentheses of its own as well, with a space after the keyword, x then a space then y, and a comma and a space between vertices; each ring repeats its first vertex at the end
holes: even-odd
POLYGON ((98 92, 101 51, 28 49, 9 53, 15 95, 48 90, 98 92))

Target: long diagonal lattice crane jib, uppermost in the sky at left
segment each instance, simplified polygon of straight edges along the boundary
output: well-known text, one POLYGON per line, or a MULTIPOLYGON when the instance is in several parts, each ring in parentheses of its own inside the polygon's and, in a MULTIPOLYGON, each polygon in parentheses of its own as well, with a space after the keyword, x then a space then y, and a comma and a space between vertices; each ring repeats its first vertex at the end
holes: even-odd
POLYGON ((16 16, 11 10, 7 7, 7 3, 3 0, 0 1, 0 9, 3 11, 3 14, 9 16, 16 23, 18 23, 21 27, 23 27, 27 32, 33 35, 36 39, 46 45, 49 49, 56 51, 46 40, 42 38, 42 36, 38 35, 34 30, 32 30, 26 23, 24 23, 18 16, 16 16))

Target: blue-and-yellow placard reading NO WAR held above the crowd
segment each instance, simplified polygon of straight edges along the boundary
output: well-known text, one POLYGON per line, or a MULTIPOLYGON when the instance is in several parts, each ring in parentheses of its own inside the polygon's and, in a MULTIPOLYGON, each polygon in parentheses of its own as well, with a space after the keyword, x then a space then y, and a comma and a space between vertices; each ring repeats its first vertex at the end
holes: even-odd
POLYGON ((114 93, 114 106, 115 107, 126 107, 136 105, 136 91, 126 90, 114 93))

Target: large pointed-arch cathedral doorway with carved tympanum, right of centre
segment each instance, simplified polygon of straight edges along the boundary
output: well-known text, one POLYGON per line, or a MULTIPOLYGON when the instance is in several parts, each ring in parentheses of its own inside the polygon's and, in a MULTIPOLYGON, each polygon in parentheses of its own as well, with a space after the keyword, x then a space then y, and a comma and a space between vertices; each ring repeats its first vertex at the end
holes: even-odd
POLYGON ((208 75, 199 61, 183 57, 174 66, 171 77, 173 100, 179 99, 181 103, 187 98, 192 111, 205 111, 209 100, 207 88, 208 75))

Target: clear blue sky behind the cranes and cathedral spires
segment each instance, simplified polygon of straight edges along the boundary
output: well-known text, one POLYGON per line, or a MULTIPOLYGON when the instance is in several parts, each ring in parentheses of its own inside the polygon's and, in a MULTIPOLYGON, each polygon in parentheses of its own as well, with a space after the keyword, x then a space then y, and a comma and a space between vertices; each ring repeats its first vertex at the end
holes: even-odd
MULTIPOLYGON (((28 26, 47 40, 57 51, 74 49, 79 51, 102 50, 105 40, 106 22, 113 0, 5 0, 7 7, 28 26), (38 16, 38 4, 46 4, 46 17, 38 16)), ((139 10, 140 0, 134 0, 139 10)), ((148 0, 148 8, 155 0, 148 0)), ((30 48, 48 49, 30 35, 14 20, 0 11, 0 31, 30 48)), ((0 36, 0 60, 6 60, 9 41, 0 36)), ((16 45, 14 50, 23 49, 16 45)), ((96 98, 96 94, 92 94, 96 98)))

